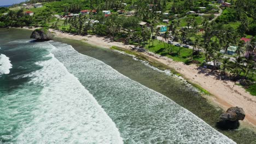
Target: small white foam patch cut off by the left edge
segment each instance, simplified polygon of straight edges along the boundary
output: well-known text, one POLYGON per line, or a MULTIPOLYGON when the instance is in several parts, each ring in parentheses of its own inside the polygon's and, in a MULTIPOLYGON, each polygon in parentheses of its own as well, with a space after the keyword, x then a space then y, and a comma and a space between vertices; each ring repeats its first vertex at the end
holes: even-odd
POLYGON ((13 67, 9 57, 1 54, 0 55, 0 76, 3 74, 9 74, 10 69, 13 67))

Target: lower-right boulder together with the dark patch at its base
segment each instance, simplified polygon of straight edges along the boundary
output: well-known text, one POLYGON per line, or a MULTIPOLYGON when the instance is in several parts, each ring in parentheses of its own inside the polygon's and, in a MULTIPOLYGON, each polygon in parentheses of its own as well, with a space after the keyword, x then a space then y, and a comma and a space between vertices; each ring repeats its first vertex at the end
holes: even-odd
POLYGON ((238 121, 243 121, 243 119, 245 119, 245 111, 241 107, 230 107, 220 115, 220 121, 216 126, 222 130, 237 129, 240 125, 238 121))

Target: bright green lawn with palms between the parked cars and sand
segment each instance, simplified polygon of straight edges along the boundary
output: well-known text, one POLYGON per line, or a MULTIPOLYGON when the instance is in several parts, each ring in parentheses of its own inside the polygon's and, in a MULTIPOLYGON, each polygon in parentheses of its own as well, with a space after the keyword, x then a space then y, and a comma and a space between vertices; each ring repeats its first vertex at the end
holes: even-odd
MULTIPOLYGON (((157 53, 161 56, 166 56, 166 57, 172 58, 174 61, 178 61, 178 62, 186 63, 189 61, 189 59, 192 55, 191 49, 181 47, 180 55, 178 55, 178 51, 179 51, 178 46, 169 45, 169 47, 168 47, 167 44, 165 44, 165 46, 164 46, 164 43, 162 43, 161 41, 154 40, 154 46, 152 46, 152 43, 150 43, 149 47, 148 47, 148 45, 146 45, 145 47, 151 52, 157 53), (165 48, 165 46, 166 46, 166 48, 165 48), (170 51, 172 51, 172 52, 170 53, 170 51)), ((197 57, 194 56, 193 59, 195 61, 199 61, 200 63, 202 63, 205 58, 202 55, 200 55, 197 57)))

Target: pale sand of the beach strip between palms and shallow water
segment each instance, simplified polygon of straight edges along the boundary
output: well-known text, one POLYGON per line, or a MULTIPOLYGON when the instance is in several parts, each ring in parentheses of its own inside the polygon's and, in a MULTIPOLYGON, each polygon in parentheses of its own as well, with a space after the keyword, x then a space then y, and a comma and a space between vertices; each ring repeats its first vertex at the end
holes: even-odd
MULTIPOLYGON (((85 43, 105 48, 119 46, 125 49, 131 49, 131 47, 134 47, 133 45, 124 45, 123 43, 114 42, 106 37, 96 37, 95 35, 72 35, 53 31, 53 29, 50 29, 50 31, 54 32, 59 38, 84 40, 85 43)), ((224 110, 231 106, 242 107, 246 112, 246 119, 244 121, 254 125, 254 127, 256 126, 256 97, 246 92, 241 86, 235 85, 235 82, 222 81, 210 70, 198 68, 194 64, 186 65, 182 62, 174 62, 167 57, 159 57, 158 55, 152 56, 148 53, 144 53, 144 55, 164 63, 170 68, 174 68, 178 73, 181 73, 186 80, 196 83, 206 89, 213 95, 213 97, 208 96, 208 99, 217 103, 224 110)))

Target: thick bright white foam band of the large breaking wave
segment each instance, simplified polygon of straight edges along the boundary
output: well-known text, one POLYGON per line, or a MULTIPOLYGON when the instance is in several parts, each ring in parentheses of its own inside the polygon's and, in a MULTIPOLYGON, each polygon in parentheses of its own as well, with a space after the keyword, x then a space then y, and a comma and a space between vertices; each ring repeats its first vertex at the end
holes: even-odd
MULTIPOLYGON (((49 46, 49 45, 48 45, 49 46)), ((38 62, 31 84, 43 86, 34 119, 18 143, 123 143, 112 119, 78 79, 52 57, 38 62)))

